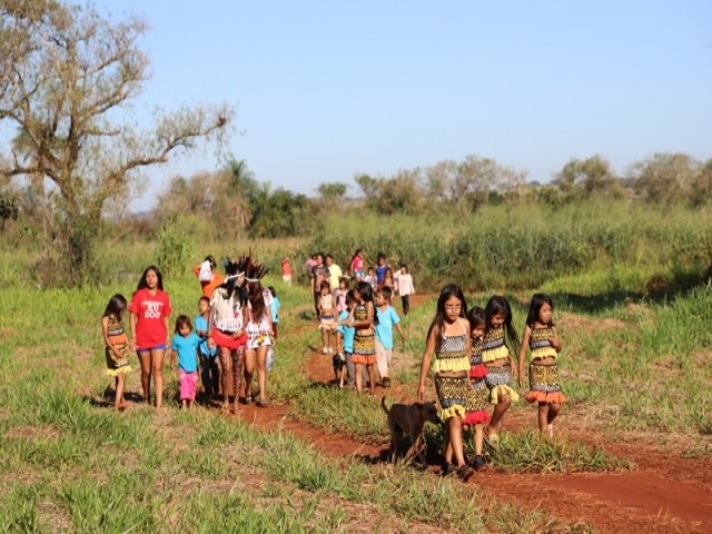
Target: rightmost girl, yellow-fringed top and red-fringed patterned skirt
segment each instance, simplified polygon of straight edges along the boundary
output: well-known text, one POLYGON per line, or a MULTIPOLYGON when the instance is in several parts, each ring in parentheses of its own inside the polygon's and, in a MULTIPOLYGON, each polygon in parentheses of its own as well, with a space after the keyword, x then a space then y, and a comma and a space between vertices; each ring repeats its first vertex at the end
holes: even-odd
POLYGON ((561 353, 561 340, 552 322, 554 305, 548 295, 537 293, 532 297, 526 326, 520 347, 520 386, 524 382, 526 347, 532 352, 530 364, 528 403, 538 403, 538 429, 548 437, 554 435, 554 419, 566 397, 561 393, 556 357, 561 353))

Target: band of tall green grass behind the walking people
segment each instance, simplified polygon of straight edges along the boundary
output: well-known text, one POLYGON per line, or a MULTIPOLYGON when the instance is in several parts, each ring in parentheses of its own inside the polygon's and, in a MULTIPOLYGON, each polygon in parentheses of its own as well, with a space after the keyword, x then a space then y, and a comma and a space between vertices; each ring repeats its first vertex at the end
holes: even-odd
MULTIPOLYGON (((699 278, 712 265, 712 214, 591 200, 554 209, 522 205, 475 214, 396 217, 327 216, 301 247, 348 265, 363 248, 406 263, 422 288, 454 281, 474 290, 527 288, 609 265, 699 278)), ((644 289, 641 287, 640 289, 644 289)))

